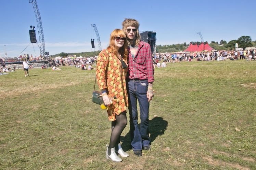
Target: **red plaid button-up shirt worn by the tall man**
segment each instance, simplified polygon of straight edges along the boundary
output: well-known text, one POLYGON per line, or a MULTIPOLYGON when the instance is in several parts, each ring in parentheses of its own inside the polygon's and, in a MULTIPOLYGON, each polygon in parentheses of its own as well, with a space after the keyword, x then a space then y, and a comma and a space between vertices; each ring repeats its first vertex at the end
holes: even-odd
POLYGON ((149 83, 154 81, 154 66, 152 61, 151 48, 148 43, 140 41, 138 51, 134 59, 132 59, 132 55, 129 49, 128 65, 129 79, 148 79, 149 83))

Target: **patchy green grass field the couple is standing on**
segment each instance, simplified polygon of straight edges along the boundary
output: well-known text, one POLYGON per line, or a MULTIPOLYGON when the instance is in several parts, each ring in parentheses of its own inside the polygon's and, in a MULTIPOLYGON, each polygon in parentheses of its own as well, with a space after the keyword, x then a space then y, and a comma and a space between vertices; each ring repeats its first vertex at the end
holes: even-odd
POLYGON ((119 163, 105 157, 111 122, 91 101, 95 70, 60 68, 0 75, 0 169, 256 169, 255 61, 155 69, 152 150, 133 154, 128 123, 119 163))

